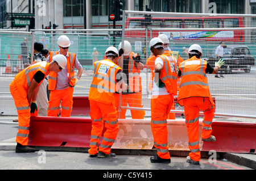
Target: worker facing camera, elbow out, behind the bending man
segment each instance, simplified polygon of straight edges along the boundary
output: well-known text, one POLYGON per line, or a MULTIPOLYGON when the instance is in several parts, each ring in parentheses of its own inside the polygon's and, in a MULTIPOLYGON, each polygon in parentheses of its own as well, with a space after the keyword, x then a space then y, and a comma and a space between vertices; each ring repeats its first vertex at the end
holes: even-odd
POLYGON ((55 54, 63 54, 67 57, 68 63, 65 70, 58 74, 49 73, 48 89, 50 96, 47 116, 57 117, 61 102, 60 116, 70 117, 73 106, 73 87, 79 82, 83 69, 79 60, 76 58, 76 54, 68 52, 71 42, 67 36, 61 35, 57 40, 57 44, 60 49, 57 52, 50 52, 46 61, 51 62, 55 54), (78 70, 76 77, 75 68, 78 70))

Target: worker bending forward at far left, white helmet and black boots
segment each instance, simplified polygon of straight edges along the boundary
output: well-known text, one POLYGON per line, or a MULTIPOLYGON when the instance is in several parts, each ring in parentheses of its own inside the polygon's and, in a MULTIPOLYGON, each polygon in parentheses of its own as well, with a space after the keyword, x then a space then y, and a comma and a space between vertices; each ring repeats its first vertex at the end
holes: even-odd
POLYGON ((38 62, 28 68, 20 71, 10 83, 10 92, 13 96, 15 106, 18 111, 18 134, 16 136, 16 153, 34 152, 34 148, 27 146, 30 128, 30 113, 37 109, 36 98, 40 83, 43 82, 46 75, 54 71, 58 73, 65 69, 67 58, 57 55, 52 58, 49 64, 46 61, 38 62))

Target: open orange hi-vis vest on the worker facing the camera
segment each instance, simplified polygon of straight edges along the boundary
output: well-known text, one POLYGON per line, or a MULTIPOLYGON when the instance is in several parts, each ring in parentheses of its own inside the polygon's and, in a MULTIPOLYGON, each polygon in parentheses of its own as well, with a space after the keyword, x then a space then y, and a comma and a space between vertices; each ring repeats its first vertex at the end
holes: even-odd
MULTIPOLYGON (((49 62, 52 61, 52 57, 55 56, 56 54, 59 54, 59 51, 56 52, 50 52, 49 54, 49 62)), ((74 63, 76 60, 76 54, 75 53, 70 53, 68 52, 68 58, 67 58, 67 71, 68 71, 68 75, 69 75, 69 85, 72 87, 75 82, 76 82, 76 78, 75 78, 75 69, 74 69, 74 63)), ((57 81, 57 73, 55 73, 54 71, 51 71, 49 73, 49 78, 48 78, 48 89, 49 90, 55 90, 56 87, 56 81, 57 81)))

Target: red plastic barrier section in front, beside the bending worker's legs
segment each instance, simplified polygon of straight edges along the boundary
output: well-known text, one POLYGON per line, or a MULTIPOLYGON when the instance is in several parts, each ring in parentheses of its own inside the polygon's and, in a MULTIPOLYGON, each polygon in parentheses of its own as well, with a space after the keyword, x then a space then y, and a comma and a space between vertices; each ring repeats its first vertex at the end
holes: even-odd
POLYGON ((92 120, 81 117, 31 117, 28 145, 89 148, 92 120))

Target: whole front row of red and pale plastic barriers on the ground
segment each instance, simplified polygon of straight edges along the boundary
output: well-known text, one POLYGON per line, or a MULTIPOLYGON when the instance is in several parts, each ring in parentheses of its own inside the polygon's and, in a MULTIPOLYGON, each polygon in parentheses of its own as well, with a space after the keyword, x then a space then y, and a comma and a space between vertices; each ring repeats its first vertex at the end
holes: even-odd
MULTIPOLYGON (((150 150, 154 145, 150 119, 120 119, 113 149, 150 150)), ((167 120, 170 150, 188 150, 187 128, 184 120, 167 120)), ((89 148, 92 121, 81 117, 31 117, 28 145, 89 148)), ((203 142, 202 151, 254 153, 256 123, 213 121, 216 142, 203 142)), ((201 130, 201 121, 199 121, 201 130)), ((104 133, 104 132, 103 132, 104 133)), ((102 133, 102 134, 103 134, 102 133)), ((201 135, 201 131, 199 133, 201 135)))

